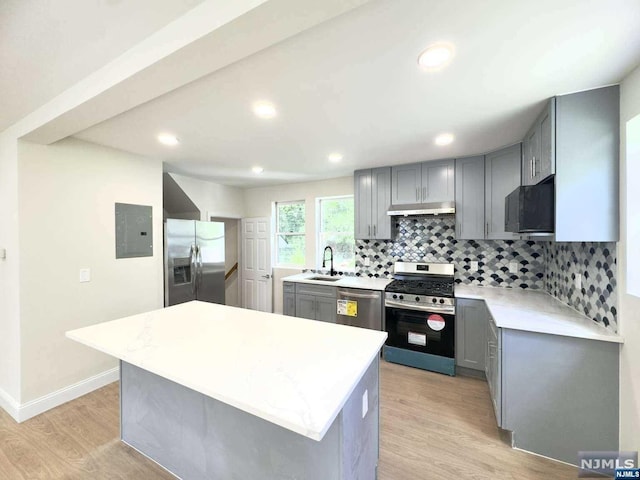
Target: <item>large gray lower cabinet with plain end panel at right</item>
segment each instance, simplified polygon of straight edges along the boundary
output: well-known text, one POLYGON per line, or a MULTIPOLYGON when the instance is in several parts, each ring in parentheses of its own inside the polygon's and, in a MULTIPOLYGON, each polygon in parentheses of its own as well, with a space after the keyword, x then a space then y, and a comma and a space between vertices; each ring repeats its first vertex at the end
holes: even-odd
POLYGON ((619 344, 487 325, 487 381, 514 447, 571 464, 618 450, 619 344))

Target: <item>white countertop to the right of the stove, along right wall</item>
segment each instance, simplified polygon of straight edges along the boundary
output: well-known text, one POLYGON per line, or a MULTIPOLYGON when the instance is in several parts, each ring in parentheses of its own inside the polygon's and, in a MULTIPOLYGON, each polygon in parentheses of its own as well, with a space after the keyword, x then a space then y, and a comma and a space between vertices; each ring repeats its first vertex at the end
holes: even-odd
POLYGON ((529 332, 623 343, 612 330, 546 292, 456 285, 456 298, 484 300, 496 326, 529 332))

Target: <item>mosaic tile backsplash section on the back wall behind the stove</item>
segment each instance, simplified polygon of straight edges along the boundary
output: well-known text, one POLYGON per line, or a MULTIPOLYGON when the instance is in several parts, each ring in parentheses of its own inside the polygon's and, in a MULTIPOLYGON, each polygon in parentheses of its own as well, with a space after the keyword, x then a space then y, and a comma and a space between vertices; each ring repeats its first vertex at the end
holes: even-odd
POLYGON ((393 264, 447 262, 456 282, 541 290, 545 288, 544 245, 524 240, 456 240, 455 217, 400 217, 393 240, 356 240, 356 275, 391 277, 393 264), (366 259, 369 266, 365 266, 366 259), (471 262, 478 270, 471 270, 471 262), (517 263, 517 273, 509 264, 517 263))

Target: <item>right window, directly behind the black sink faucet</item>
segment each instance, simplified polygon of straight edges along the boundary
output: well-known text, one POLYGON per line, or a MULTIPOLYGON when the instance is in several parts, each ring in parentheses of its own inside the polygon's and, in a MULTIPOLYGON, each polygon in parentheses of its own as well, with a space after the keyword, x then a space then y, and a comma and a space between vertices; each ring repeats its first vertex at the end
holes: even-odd
POLYGON ((355 268, 353 226, 353 196, 318 199, 318 266, 322 266, 324 247, 328 245, 333 249, 336 270, 355 268))

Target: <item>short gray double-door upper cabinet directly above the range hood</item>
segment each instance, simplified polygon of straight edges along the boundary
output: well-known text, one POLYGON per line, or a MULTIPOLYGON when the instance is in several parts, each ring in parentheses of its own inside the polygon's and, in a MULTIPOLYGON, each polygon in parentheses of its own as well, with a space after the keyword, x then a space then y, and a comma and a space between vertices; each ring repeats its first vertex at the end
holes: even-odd
POLYGON ((392 167, 391 180, 394 205, 455 200, 453 159, 392 167))

